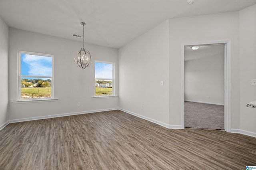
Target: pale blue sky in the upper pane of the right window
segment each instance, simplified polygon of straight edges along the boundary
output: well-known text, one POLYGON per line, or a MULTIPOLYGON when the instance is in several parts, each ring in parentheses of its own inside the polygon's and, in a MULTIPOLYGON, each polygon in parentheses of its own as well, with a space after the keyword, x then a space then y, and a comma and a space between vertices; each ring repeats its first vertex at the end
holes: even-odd
POLYGON ((109 63, 95 62, 95 78, 112 79, 112 65, 109 63))

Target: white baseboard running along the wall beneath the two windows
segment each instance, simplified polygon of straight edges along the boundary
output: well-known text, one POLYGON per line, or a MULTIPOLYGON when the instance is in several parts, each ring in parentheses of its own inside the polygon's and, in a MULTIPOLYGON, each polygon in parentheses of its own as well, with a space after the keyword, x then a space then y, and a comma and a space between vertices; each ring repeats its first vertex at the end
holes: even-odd
POLYGON ((92 110, 92 111, 83 111, 83 112, 73 112, 73 113, 64 113, 58 115, 48 115, 48 116, 40 116, 40 117, 30 117, 24 119, 12 119, 9 120, 9 123, 17 123, 17 122, 25 122, 25 121, 35 121, 40 119, 49 119, 54 117, 64 117, 64 116, 72 116, 72 115, 82 115, 87 113, 96 113, 96 112, 104 112, 104 111, 113 111, 118 110, 118 108, 111 108, 111 109, 100 109, 100 110, 92 110))

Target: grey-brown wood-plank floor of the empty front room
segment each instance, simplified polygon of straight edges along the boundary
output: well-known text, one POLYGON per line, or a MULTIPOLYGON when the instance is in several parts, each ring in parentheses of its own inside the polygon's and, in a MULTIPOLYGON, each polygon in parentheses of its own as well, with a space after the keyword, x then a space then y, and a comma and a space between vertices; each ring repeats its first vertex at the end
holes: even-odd
POLYGON ((122 111, 12 123, 0 131, 1 170, 243 170, 256 138, 168 129, 122 111))

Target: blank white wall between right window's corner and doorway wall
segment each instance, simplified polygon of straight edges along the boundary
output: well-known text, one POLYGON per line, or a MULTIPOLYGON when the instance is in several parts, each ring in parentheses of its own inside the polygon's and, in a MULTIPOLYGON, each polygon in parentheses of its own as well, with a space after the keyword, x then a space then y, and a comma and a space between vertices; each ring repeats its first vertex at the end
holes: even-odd
POLYGON ((168 20, 121 47, 118 56, 119 107, 169 124, 168 20))

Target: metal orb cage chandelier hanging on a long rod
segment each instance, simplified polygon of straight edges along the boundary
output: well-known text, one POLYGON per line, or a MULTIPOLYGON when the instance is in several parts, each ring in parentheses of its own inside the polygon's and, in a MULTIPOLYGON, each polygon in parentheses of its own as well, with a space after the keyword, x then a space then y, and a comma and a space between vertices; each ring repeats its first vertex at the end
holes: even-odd
POLYGON ((85 69, 86 67, 88 67, 92 61, 92 57, 91 54, 88 50, 84 49, 84 26, 86 25, 85 22, 81 22, 82 26, 83 26, 83 47, 76 52, 75 55, 75 61, 77 63, 77 65, 79 67, 81 67, 82 69, 85 69))

